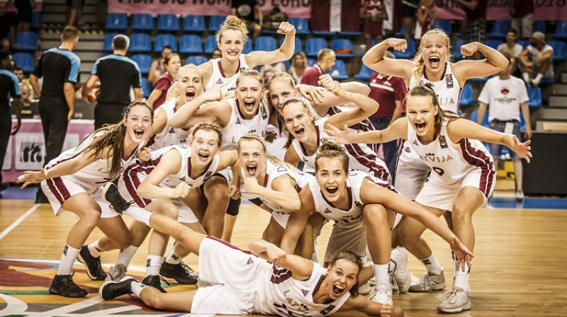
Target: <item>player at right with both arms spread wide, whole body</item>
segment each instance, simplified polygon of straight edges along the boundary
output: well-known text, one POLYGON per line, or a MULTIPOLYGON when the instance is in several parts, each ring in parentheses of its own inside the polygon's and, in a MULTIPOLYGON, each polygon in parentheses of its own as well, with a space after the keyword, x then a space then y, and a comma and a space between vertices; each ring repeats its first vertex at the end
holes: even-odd
MULTIPOLYGON (((513 134, 495 132, 442 110, 437 93, 428 86, 412 88, 405 101, 407 119, 400 118, 382 131, 353 134, 347 129, 339 131, 329 126, 329 134, 341 143, 383 143, 406 139, 412 151, 432 171, 415 201, 437 217, 448 211, 445 218, 449 227, 467 248, 473 250, 475 234, 472 216, 486 203, 496 180, 493 158, 481 142, 508 146, 528 163, 532 157, 530 142, 520 143, 513 134)), ((424 230, 425 226, 406 217, 398 226, 398 239, 417 258, 430 259, 432 251, 420 239, 424 230)), ((432 264, 429 263, 428 269, 432 264)), ((437 306, 439 311, 459 313, 471 309, 469 269, 470 262, 466 266, 455 265, 453 289, 437 306)), ((419 284, 412 285, 417 292, 444 287, 441 267, 439 272, 429 272, 419 284)))

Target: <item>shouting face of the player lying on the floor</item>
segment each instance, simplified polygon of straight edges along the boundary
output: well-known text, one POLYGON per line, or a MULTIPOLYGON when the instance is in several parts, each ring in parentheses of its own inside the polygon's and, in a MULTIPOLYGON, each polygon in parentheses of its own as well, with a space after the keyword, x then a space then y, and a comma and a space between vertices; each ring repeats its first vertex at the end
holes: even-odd
POLYGON ((352 260, 339 259, 327 268, 327 282, 331 299, 339 299, 357 283, 359 267, 352 260))

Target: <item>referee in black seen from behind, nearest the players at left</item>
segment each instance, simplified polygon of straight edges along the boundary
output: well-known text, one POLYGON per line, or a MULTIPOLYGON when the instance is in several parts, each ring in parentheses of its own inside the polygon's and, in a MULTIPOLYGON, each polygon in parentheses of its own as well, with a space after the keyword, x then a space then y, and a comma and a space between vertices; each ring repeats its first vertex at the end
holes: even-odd
POLYGON ((128 36, 116 35, 112 39, 113 54, 96 60, 91 76, 83 86, 83 98, 87 102, 98 101, 94 108, 94 129, 113 125, 123 119, 123 109, 131 101, 130 87, 134 90, 134 100, 143 97, 140 68, 126 57, 129 45, 128 36), (96 86, 100 86, 100 89, 96 86))

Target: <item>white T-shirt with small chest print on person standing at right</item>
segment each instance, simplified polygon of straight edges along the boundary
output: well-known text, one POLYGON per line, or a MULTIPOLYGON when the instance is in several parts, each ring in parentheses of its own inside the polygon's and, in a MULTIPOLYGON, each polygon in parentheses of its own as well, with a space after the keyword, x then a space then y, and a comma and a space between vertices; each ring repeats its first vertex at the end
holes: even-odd
POLYGON ((502 80, 493 77, 486 81, 478 101, 488 104, 488 121, 520 121, 520 104, 529 100, 524 81, 511 76, 502 80))

